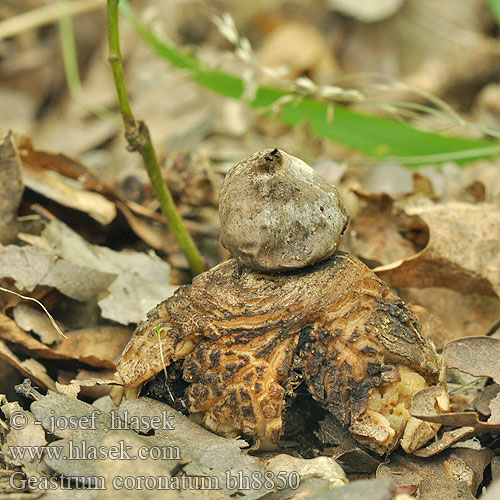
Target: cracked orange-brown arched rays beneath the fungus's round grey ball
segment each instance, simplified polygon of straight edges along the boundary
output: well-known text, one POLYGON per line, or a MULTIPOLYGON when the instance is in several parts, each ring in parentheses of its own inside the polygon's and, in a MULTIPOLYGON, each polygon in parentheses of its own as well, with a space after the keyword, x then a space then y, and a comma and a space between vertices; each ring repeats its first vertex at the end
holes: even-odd
POLYGON ((162 358, 182 360, 174 369, 190 383, 187 406, 203 425, 262 446, 279 441, 295 375, 379 453, 401 439, 412 451, 436 432, 407 424, 412 394, 438 380, 439 356, 404 303, 342 252, 284 275, 235 259, 199 275, 153 309, 125 348, 117 379, 129 397, 163 370, 162 358))

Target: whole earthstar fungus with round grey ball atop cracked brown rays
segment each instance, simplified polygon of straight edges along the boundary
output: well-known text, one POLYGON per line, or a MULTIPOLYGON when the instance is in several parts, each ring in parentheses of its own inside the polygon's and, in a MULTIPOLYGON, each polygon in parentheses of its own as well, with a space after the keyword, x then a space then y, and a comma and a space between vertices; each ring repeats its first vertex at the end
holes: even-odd
POLYGON ((378 453, 399 443, 411 452, 435 435, 436 424, 408 409, 415 392, 438 382, 439 356, 383 281, 335 253, 348 221, 337 190, 303 161, 266 150, 229 171, 220 218, 235 258, 138 325, 117 367, 115 402, 136 397, 163 358, 182 373, 190 414, 255 447, 279 442, 299 383, 378 453))

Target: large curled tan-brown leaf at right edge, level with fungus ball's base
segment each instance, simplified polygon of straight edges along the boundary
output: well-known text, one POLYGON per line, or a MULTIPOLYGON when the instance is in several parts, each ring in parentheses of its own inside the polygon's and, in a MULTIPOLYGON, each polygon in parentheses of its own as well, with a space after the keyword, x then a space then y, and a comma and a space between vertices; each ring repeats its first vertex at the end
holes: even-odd
POLYGON ((391 286, 447 287, 500 296, 500 208, 450 202, 407 207, 429 227, 429 243, 413 257, 374 271, 391 286))

